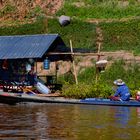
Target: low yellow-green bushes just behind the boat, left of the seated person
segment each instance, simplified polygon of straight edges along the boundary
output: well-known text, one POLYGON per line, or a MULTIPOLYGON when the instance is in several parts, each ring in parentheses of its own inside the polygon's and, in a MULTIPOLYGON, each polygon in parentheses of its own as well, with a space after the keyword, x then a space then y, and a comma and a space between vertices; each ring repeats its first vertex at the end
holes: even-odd
POLYGON ((107 85, 101 84, 85 84, 79 83, 78 85, 66 84, 63 86, 62 95, 69 98, 107 98, 112 94, 112 90, 107 85))

